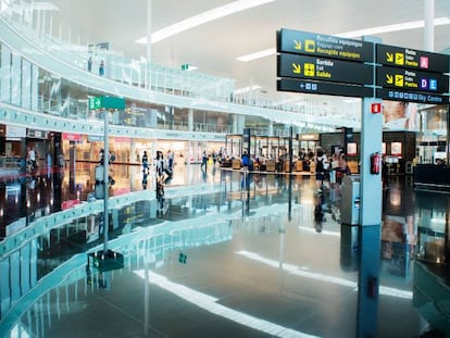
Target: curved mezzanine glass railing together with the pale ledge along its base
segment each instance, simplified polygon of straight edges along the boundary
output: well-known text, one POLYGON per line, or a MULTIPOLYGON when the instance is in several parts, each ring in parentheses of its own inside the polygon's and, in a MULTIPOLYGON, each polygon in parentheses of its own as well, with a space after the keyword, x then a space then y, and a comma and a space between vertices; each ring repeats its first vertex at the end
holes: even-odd
POLYGON ((360 124, 358 114, 347 115, 346 117, 346 114, 337 116, 336 112, 332 114, 318 112, 317 107, 308 107, 308 102, 300 107, 280 104, 271 100, 259 100, 251 96, 248 98, 233 97, 230 95, 233 88, 229 85, 233 80, 159 65, 153 66, 153 64, 147 71, 150 74, 141 77, 148 77, 154 82, 151 85, 141 86, 141 84, 133 80, 124 80, 124 78, 127 78, 126 74, 136 68, 136 62, 133 60, 123 59, 123 62, 115 65, 111 64, 113 66, 111 74, 120 73, 122 75, 112 76, 111 78, 108 78, 108 76, 100 77, 86 71, 86 49, 55 40, 53 37, 36 32, 33 27, 25 25, 24 22, 14 20, 12 15, 7 15, 5 12, 0 16, 0 25, 2 32, 5 32, 3 39, 7 45, 20 51, 24 58, 45 70, 51 70, 51 72, 63 78, 95 90, 137 101, 202 111, 261 116, 287 124, 303 122, 310 126, 334 126, 342 124, 342 120, 348 120, 347 124, 349 126, 358 127, 360 124), (225 95, 222 89, 217 90, 217 86, 222 89, 227 88, 225 95), (283 112, 283 114, 279 112, 283 112))

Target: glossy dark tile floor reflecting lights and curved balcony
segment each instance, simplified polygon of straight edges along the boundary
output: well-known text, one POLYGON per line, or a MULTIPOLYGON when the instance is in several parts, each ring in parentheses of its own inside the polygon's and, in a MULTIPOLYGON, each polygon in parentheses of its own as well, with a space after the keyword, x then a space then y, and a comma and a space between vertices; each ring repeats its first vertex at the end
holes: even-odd
MULTIPOLYGON (((142 189, 140 167, 113 171, 112 196, 142 189)), ((92 172, 4 180, 3 228, 86 203, 92 172)), ((0 256, 0 336, 449 336, 450 199, 410 180, 391 177, 383 226, 361 229, 339 224, 338 185, 316 195, 308 175, 179 166, 165 201, 110 214, 108 249, 123 267, 88 260, 104 249, 99 214, 0 256), (186 185, 214 189, 179 192, 186 185)))

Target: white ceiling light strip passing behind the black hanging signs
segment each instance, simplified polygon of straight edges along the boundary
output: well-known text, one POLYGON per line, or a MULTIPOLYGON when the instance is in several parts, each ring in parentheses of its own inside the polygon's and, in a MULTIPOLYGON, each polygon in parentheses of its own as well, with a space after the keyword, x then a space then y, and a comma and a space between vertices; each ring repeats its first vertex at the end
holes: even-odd
MULTIPOLYGON (((450 18, 448 16, 437 17, 434 21, 435 26, 449 25, 449 24, 450 24, 450 18)), ((385 34, 385 33, 401 32, 401 30, 416 29, 416 28, 423 28, 423 27, 425 27, 425 21, 418 20, 418 21, 411 21, 411 22, 407 22, 402 24, 351 30, 351 32, 339 33, 335 35, 342 37, 342 38, 357 38, 363 35, 385 34)), ((250 54, 236 58, 236 60, 249 62, 249 61, 258 60, 261 58, 270 57, 275 53, 276 53, 276 49, 270 48, 270 49, 265 49, 265 50, 262 50, 255 53, 250 53, 250 54)))

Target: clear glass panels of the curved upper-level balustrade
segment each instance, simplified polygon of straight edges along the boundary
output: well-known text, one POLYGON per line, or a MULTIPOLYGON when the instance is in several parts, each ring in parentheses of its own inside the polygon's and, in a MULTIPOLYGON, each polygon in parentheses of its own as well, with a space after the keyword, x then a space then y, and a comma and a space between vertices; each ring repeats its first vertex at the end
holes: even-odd
MULTIPOLYGON (((98 66, 103 60, 105 63, 104 77, 152 91, 174 96, 201 98, 216 102, 232 102, 241 105, 251 105, 260 109, 287 111, 305 115, 315 115, 316 107, 313 104, 290 103, 286 93, 276 97, 263 91, 235 92, 235 80, 222 78, 197 72, 182 71, 155 63, 147 63, 143 58, 139 60, 125 57, 116 50, 104 50, 93 45, 82 46, 60 37, 51 36, 46 32, 46 25, 37 27, 37 23, 29 20, 27 10, 18 0, 1 0, 1 17, 14 29, 27 37, 33 43, 39 45, 60 61, 74 67, 88 72, 89 55, 93 57, 91 73, 98 74, 98 66)), ((28 13, 29 14, 29 13, 28 13)), ((47 30, 50 28, 47 25, 47 30)), ((79 39, 79 38, 78 38, 79 39)), ((334 112, 326 112, 325 116, 334 117, 334 112)), ((352 114, 350 121, 360 120, 352 114)))

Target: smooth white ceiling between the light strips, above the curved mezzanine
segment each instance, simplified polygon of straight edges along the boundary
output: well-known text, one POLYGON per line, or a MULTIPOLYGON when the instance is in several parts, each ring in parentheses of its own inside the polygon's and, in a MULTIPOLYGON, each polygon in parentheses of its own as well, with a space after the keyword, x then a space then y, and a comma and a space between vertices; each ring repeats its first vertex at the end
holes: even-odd
MULTIPOLYGON (((234 0, 149 0, 152 30, 197 15, 234 0)), ((276 0, 195 27, 152 45, 152 62, 236 79, 236 88, 260 85, 276 91, 276 57, 252 62, 237 57, 275 48, 276 30, 291 28, 327 35, 424 18, 424 3, 432 0, 276 0)), ((109 41, 126 55, 146 57, 148 0, 50 0, 53 30, 82 42, 109 41)), ((450 17, 450 0, 435 0, 435 17, 450 17)), ((379 35, 383 43, 424 48, 423 28, 379 35)), ((450 25, 435 27, 435 51, 450 47, 450 25)))

